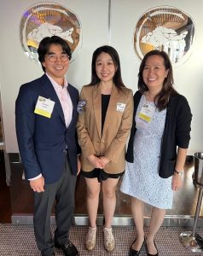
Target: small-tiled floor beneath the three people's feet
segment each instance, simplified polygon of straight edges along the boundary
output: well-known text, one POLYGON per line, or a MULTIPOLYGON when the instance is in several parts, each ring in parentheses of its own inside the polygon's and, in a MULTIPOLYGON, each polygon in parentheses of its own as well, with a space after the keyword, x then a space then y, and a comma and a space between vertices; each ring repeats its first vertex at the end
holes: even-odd
MULTIPOLYGON (((52 232, 55 227, 52 226, 52 232)), ((98 227, 96 247, 92 252, 84 249, 84 237, 87 231, 86 226, 74 226, 70 230, 70 239, 78 247, 80 256, 127 256, 132 241, 135 239, 134 227, 114 227, 113 234, 116 247, 113 253, 107 253, 103 247, 102 226, 98 227)), ((179 235, 186 231, 181 227, 162 227, 156 236, 156 245, 159 256, 199 256, 202 253, 191 253, 187 251, 179 241, 179 235)), ((148 231, 148 228, 145 228, 148 231)), ((203 230, 198 230, 203 235, 203 230)), ((56 256, 62 256, 60 250, 55 250, 56 256)), ((35 243, 32 225, 0 224, 0 255, 1 256, 39 256, 40 252, 35 243)), ((142 247, 140 256, 147 255, 146 244, 142 247)))

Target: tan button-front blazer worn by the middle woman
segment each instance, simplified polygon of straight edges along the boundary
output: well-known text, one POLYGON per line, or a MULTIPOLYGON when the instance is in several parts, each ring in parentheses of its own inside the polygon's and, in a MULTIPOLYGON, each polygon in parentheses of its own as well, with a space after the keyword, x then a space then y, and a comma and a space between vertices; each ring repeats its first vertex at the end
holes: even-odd
POLYGON ((118 90, 113 85, 102 131, 102 95, 99 84, 84 85, 80 100, 84 100, 82 113, 78 114, 78 140, 82 148, 81 168, 94 169, 87 156, 106 156, 110 162, 104 167, 107 173, 125 171, 125 143, 131 131, 133 116, 132 90, 118 90), (123 107, 119 106, 123 103, 123 107))

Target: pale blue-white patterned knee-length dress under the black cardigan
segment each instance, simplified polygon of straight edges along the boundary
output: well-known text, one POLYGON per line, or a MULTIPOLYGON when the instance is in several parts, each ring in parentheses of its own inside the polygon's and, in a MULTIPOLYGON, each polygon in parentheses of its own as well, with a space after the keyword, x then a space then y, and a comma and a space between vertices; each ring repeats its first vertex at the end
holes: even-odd
MULTIPOLYGON (((136 135, 134 138, 134 163, 126 162, 125 175, 120 190, 137 199, 161 209, 172 208, 173 191, 171 178, 159 177, 161 139, 165 127, 166 109, 155 110, 152 120, 143 129, 138 114, 145 96, 136 111, 136 135)), ((154 102, 148 102, 153 104, 154 102)))

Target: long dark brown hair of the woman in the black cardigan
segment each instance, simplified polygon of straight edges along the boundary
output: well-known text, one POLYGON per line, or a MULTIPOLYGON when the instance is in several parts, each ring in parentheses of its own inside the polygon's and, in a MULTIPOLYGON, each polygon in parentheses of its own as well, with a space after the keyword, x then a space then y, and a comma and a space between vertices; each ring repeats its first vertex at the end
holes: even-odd
POLYGON ((138 89, 142 92, 142 94, 148 90, 148 86, 144 83, 142 73, 145 67, 146 61, 149 56, 158 55, 164 59, 165 70, 168 70, 167 78, 165 78, 162 90, 159 92, 157 96, 155 96, 155 104, 159 111, 165 109, 169 102, 170 96, 177 94, 177 91, 173 88, 173 73, 172 73, 172 65, 169 59, 169 56, 165 53, 165 51, 152 50, 149 51, 146 55, 144 55, 139 73, 138 73, 138 89))

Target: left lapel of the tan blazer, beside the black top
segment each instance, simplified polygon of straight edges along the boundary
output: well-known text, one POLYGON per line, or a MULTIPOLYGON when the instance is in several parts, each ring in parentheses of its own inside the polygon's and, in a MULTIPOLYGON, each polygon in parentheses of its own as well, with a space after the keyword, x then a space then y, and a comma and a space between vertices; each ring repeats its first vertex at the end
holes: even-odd
POLYGON ((96 127, 99 134, 99 137, 102 137, 102 96, 101 96, 101 89, 100 85, 96 84, 93 87, 92 93, 93 99, 93 109, 95 112, 95 119, 96 119, 96 127))

